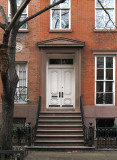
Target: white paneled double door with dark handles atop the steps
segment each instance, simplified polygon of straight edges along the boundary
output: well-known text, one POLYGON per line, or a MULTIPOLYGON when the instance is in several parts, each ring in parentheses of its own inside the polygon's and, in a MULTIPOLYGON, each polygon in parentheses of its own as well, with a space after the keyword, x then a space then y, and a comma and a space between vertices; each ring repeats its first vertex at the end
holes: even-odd
POLYGON ((48 106, 74 107, 74 69, 48 69, 48 106))

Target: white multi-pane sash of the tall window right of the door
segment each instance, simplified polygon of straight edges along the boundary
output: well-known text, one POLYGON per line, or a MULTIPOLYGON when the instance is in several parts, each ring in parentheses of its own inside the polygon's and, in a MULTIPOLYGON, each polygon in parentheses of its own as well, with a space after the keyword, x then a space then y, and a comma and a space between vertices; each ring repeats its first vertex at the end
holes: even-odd
POLYGON ((115 57, 100 56, 100 55, 96 56, 95 57, 95 105, 114 105, 114 104, 115 104, 115 57), (98 57, 104 58, 104 65, 103 63, 102 64, 100 63, 100 65, 97 65, 98 57), (106 60, 108 57, 113 58, 113 65, 111 62, 111 65, 107 66, 106 60), (97 79, 98 69, 104 70, 103 79, 99 79, 99 80, 97 79), (113 79, 107 79, 107 76, 106 76, 107 69, 111 69, 111 70, 113 69, 113 79), (101 102, 99 103, 97 98, 100 99, 102 103, 101 102))

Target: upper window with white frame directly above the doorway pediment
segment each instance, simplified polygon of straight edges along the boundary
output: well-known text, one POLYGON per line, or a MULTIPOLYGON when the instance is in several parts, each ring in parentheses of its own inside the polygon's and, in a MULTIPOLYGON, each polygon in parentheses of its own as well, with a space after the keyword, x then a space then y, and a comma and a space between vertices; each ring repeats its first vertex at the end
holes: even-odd
MULTIPOLYGON (((51 0, 51 3, 58 0, 51 0)), ((70 0, 51 9, 51 29, 70 29, 70 0)))

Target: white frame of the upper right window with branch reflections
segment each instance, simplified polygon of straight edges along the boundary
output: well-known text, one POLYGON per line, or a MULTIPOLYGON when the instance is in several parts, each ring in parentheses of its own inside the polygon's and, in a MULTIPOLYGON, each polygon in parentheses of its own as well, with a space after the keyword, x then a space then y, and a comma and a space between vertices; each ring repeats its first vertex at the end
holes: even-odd
MULTIPOLYGON (((104 0, 104 3, 105 3, 105 1, 106 1, 106 0, 104 0)), ((106 23, 105 23, 105 16, 106 16, 105 11, 104 11, 104 27, 103 27, 103 28, 98 28, 98 27, 97 27, 97 22, 96 22, 96 17, 97 17, 97 15, 96 15, 96 10, 103 10, 103 9, 102 9, 101 7, 97 7, 97 6, 96 6, 96 2, 97 2, 97 0, 95 0, 95 29, 115 29, 115 26, 113 26, 113 27, 111 27, 111 28, 108 28, 108 27, 105 26, 105 24, 106 24, 106 23)), ((116 5, 115 5, 115 4, 116 4, 115 2, 116 2, 116 0, 114 0, 114 2, 113 2, 113 3, 114 3, 114 8, 105 8, 105 9, 107 9, 107 11, 110 10, 110 9, 113 9, 113 10, 114 10, 114 11, 113 11, 113 14, 114 14, 114 15, 113 15, 113 23, 115 23, 115 9, 116 9, 116 8, 115 8, 115 6, 116 6, 116 5)))

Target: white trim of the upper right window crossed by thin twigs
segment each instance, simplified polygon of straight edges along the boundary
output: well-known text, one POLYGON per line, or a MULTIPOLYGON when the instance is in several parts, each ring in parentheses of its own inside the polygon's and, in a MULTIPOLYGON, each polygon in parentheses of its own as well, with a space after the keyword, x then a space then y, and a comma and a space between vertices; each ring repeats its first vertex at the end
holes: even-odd
MULTIPOLYGON (((106 0, 104 0, 104 3, 105 3, 105 1, 106 0)), ((95 29, 115 29, 115 26, 113 26, 113 27, 111 27, 111 28, 107 28, 107 27, 103 27, 103 28, 97 28, 96 27, 96 9, 97 9, 97 7, 96 7, 96 2, 97 2, 97 0, 95 0, 95 29)), ((108 8, 108 9, 112 9, 112 10, 114 10, 114 15, 113 15, 113 22, 116 24, 116 19, 115 19, 115 10, 116 10, 116 0, 114 0, 114 8, 108 8)), ((100 8, 100 10, 103 10, 102 8, 100 8)), ((106 13, 105 13, 106 14, 106 13)), ((104 14, 104 19, 105 19, 105 14, 104 14)), ((105 25, 105 20, 104 20, 104 25, 105 25)))

